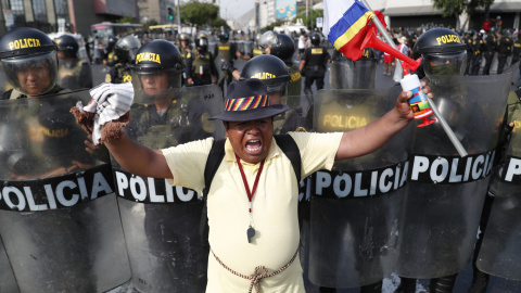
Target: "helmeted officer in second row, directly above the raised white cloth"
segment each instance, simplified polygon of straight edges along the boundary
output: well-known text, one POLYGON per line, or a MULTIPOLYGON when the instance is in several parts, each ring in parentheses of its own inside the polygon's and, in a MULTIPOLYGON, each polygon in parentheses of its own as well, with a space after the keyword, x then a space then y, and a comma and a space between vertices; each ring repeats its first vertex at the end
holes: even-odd
POLYGON ((134 63, 136 52, 140 47, 141 42, 131 35, 125 36, 116 42, 114 52, 119 63, 115 64, 105 75, 105 82, 123 84, 132 80, 128 65, 134 63))

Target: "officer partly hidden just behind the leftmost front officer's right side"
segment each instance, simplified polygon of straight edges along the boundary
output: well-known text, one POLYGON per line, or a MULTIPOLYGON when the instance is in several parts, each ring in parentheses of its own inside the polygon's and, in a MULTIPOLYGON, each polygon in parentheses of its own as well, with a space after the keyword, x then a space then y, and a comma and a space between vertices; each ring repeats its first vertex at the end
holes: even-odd
POLYGON ((54 41, 58 44, 58 84, 71 90, 92 88, 90 64, 77 58, 79 44, 76 39, 71 35, 62 35, 54 41))

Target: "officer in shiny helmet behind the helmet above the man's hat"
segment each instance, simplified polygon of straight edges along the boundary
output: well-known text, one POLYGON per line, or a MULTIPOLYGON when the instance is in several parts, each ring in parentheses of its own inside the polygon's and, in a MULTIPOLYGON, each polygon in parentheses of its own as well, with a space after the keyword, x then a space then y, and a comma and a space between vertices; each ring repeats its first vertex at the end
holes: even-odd
POLYGON ((264 49, 266 54, 277 56, 285 63, 291 76, 288 95, 300 97, 302 90, 302 74, 293 63, 295 43, 291 37, 285 34, 277 34, 269 30, 259 37, 258 44, 264 49))

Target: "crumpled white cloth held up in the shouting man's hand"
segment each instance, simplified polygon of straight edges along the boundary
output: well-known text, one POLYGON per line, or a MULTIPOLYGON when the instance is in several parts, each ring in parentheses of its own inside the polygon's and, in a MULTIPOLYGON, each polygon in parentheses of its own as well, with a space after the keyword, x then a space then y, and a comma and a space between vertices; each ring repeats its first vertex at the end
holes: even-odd
POLYGON ((96 114, 92 142, 98 145, 101 140, 101 127, 107 122, 118 119, 130 111, 134 101, 134 87, 131 82, 104 82, 92 88, 90 97, 92 97, 92 101, 84 106, 82 111, 96 114))

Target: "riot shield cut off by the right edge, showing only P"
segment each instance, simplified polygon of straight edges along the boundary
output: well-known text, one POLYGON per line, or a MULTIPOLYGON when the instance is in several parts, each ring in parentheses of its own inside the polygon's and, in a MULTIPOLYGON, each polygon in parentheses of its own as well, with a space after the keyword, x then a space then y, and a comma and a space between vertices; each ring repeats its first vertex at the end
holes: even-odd
MULTIPOLYGON (((517 98, 517 97, 516 97, 517 98)), ((506 160, 491 182, 495 195, 476 267, 488 275, 521 280, 521 107, 509 104, 512 130, 506 160)))

